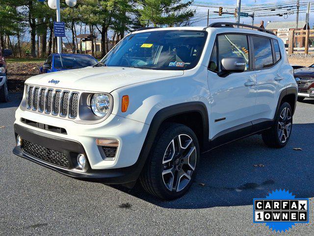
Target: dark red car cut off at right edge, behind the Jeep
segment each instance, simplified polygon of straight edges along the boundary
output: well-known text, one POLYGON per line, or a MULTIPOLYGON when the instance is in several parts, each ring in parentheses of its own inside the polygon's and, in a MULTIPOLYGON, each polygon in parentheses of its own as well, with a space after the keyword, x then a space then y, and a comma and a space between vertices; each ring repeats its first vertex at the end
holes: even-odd
POLYGON ((294 78, 298 83, 298 101, 304 98, 314 98, 314 64, 294 70, 294 78))

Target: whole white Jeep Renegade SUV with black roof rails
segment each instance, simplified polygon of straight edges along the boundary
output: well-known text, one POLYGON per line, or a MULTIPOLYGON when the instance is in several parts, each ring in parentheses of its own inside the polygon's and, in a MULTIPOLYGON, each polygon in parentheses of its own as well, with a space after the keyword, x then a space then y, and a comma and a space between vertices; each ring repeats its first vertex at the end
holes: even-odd
POLYGON ((252 134, 284 147, 297 84, 285 45, 234 23, 140 29, 98 64, 26 81, 13 152, 69 177, 182 196, 200 153, 252 134))

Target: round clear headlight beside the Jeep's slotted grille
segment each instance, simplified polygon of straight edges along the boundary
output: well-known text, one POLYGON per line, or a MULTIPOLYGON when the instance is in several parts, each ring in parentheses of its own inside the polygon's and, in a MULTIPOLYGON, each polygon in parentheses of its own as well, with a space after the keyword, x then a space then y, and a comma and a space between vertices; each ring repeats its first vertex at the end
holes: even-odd
POLYGON ((91 100, 91 108, 98 117, 105 117, 110 110, 110 99, 106 94, 95 93, 91 100))

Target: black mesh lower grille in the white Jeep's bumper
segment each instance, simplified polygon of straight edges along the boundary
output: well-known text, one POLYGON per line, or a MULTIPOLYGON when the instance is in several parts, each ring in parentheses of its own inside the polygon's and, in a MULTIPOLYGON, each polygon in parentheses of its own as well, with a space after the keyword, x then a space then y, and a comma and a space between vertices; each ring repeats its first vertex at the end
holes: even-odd
POLYGON ((23 146, 22 149, 24 152, 27 154, 38 158, 40 160, 49 162, 53 165, 61 166, 64 168, 69 168, 70 163, 69 160, 66 156, 66 154, 60 152, 60 151, 55 151, 49 148, 45 148, 42 146, 39 146, 37 144, 33 144, 31 142, 28 142, 26 140, 23 140, 23 146))

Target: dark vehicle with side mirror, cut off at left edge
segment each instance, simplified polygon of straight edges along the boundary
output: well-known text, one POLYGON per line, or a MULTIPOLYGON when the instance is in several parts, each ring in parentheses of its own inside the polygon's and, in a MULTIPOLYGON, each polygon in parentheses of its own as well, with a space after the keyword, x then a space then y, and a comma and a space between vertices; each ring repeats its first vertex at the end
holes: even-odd
POLYGON ((4 57, 11 54, 12 50, 10 49, 4 49, 3 53, 0 49, 0 102, 8 101, 7 66, 4 57))

